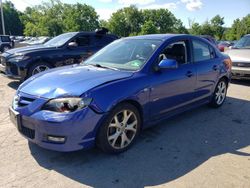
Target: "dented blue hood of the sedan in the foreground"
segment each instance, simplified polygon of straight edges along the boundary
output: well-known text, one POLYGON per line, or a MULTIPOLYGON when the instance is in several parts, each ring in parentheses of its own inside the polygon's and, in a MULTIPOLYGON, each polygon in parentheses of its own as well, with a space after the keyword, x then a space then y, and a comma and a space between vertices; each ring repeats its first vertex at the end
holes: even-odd
POLYGON ((47 99, 80 96, 94 87, 132 75, 132 72, 126 71, 71 65, 51 69, 29 78, 20 85, 18 92, 47 99))

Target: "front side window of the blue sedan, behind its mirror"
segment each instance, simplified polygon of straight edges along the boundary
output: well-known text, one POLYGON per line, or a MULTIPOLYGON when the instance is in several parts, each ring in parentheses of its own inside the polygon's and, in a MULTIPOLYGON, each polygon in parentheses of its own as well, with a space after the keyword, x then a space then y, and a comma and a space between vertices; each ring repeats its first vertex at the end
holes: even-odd
POLYGON ((187 41, 178 41, 168 45, 159 55, 159 62, 163 59, 174 59, 179 65, 186 64, 187 41))

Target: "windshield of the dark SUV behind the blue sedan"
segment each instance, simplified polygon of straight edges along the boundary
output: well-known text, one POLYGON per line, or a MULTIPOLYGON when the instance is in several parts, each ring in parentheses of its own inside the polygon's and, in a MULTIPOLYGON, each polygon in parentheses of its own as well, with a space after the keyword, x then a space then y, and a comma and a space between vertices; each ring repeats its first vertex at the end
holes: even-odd
POLYGON ((44 43, 44 46, 48 46, 48 47, 62 46, 75 35, 76 33, 65 33, 65 34, 59 35, 49 40, 48 42, 44 43))

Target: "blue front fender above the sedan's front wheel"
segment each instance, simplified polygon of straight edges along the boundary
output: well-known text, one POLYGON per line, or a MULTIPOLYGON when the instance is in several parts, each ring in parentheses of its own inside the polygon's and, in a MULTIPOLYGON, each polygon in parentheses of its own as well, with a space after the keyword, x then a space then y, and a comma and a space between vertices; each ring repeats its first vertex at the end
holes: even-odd
POLYGON ((148 117, 149 82, 147 76, 136 73, 134 76, 117 80, 90 90, 86 96, 93 98, 92 105, 106 113, 123 101, 135 101, 143 109, 143 116, 148 117))

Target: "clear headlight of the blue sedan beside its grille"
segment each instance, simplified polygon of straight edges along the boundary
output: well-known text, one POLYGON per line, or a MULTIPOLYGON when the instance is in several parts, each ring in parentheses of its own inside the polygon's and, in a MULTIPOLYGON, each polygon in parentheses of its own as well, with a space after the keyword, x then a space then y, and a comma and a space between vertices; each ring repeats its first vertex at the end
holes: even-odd
POLYGON ((43 106, 42 110, 69 113, 88 106, 91 101, 90 98, 78 97, 52 99, 43 106))

